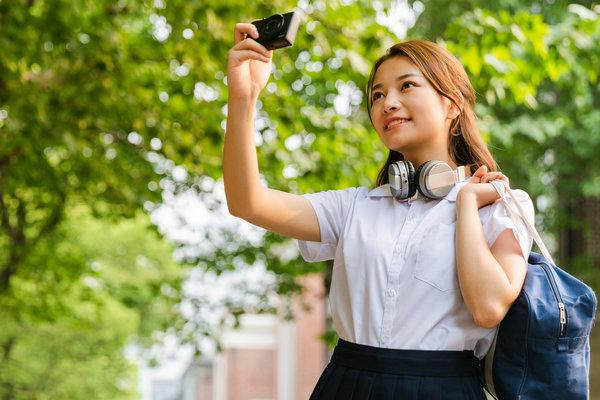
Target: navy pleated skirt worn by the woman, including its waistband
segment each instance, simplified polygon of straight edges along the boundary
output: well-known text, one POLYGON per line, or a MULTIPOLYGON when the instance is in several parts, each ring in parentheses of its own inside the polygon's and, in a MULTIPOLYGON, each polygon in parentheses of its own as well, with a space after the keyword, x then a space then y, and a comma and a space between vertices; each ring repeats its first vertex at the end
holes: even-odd
POLYGON ((395 350, 340 339, 310 400, 485 400, 472 351, 395 350))

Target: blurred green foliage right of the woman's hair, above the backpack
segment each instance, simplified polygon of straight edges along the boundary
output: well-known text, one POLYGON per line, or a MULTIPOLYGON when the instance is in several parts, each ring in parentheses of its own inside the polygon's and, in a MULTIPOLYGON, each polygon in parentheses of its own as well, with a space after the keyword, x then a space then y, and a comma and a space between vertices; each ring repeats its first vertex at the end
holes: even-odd
POLYGON ((542 14, 475 10, 448 26, 447 47, 476 91, 482 133, 513 186, 555 236, 563 266, 596 288, 600 234, 600 7, 542 14))

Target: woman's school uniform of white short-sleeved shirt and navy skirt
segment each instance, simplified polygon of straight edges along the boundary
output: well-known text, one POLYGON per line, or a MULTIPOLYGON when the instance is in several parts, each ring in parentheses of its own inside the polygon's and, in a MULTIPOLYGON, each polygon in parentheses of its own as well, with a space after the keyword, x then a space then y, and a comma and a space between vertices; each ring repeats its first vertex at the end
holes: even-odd
MULTIPOLYGON (((456 271, 458 183, 441 200, 396 200, 389 185, 304 195, 320 242, 299 241, 306 261, 334 260, 329 302, 340 337, 311 400, 485 399, 478 360, 495 328, 475 324, 456 271)), ((533 221, 533 204, 515 191, 533 221)), ((501 203, 479 210, 487 244, 513 229, 523 256, 526 230, 501 203)))

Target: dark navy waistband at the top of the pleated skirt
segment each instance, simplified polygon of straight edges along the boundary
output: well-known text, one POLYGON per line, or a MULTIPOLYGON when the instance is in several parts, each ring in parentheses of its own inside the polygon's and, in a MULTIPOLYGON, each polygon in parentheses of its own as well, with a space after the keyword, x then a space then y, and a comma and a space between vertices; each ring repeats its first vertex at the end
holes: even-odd
POLYGON ((343 339, 331 362, 348 368, 394 375, 477 376, 479 360, 472 351, 398 350, 350 343, 343 339))

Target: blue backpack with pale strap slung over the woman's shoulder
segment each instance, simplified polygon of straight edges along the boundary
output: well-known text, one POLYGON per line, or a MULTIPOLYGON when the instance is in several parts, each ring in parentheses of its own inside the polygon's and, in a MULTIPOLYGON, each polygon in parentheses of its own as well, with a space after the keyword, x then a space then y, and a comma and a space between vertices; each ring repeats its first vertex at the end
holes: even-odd
MULTIPOLYGON (((511 195, 518 211, 496 182, 507 213, 518 226, 517 217, 525 214, 510 189, 505 186, 505 193, 511 195)), ((526 218, 521 220, 544 256, 529 255, 523 289, 482 363, 485 387, 499 400, 587 400, 596 295, 553 265, 535 228, 526 218)))

